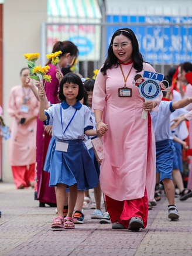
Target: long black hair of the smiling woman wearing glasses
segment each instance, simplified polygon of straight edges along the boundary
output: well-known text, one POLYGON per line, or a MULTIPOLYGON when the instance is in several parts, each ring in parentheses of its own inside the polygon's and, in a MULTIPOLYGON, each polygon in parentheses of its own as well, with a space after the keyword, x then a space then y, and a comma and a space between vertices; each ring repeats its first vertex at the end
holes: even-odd
POLYGON ((142 57, 142 54, 139 52, 139 43, 138 43, 138 40, 136 39, 135 33, 129 28, 123 28, 123 29, 116 30, 116 32, 111 38, 111 42, 108 48, 107 59, 105 60, 104 66, 101 68, 101 72, 103 72, 104 76, 106 74, 106 71, 110 69, 112 66, 115 65, 115 67, 118 67, 119 65, 118 59, 115 56, 111 46, 114 42, 115 36, 119 36, 119 35, 124 35, 128 37, 128 39, 131 40, 132 42, 132 48, 133 48, 132 60, 133 60, 134 69, 136 69, 137 72, 140 72, 143 69, 143 57, 142 57))

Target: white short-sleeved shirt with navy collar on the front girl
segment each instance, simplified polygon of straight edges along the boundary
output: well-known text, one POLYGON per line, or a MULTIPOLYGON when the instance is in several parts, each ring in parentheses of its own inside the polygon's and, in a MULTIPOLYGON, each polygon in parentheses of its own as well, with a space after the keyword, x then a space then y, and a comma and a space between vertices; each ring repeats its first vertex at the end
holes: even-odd
POLYGON ((70 106, 66 101, 63 101, 63 103, 54 104, 44 112, 47 115, 46 124, 53 125, 52 135, 56 140, 84 139, 84 132, 93 128, 91 111, 88 107, 82 105, 80 101, 73 106, 70 106), (60 106, 63 126, 61 125, 60 106), (76 110, 76 115, 74 115, 76 110), (73 115, 74 118, 71 121, 71 124, 68 126, 66 132, 64 132, 73 115))

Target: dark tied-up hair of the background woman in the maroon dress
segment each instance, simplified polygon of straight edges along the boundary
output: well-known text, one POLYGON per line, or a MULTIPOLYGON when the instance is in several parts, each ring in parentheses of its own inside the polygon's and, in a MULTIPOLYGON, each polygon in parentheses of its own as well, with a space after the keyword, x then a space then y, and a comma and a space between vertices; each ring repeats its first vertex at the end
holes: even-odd
MULTIPOLYGON (((76 61, 77 56, 78 56, 78 48, 71 41, 63 41, 63 42, 57 41, 53 46, 52 53, 59 52, 59 50, 61 50, 61 52, 62 52, 60 54, 59 58, 64 56, 64 54, 66 54, 66 53, 70 53, 71 56, 75 56, 73 63, 76 61)), ((46 65, 50 64, 51 62, 52 62, 52 60, 49 59, 48 62, 46 63, 46 65)))

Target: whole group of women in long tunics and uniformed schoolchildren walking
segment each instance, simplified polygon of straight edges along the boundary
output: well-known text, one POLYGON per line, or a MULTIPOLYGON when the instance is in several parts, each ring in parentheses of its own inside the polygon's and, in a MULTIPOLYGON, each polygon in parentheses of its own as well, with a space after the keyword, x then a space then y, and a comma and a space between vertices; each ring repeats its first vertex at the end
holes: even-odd
POLYGON ((160 200, 162 186, 169 219, 179 219, 176 188, 180 200, 192 197, 192 167, 187 188, 182 176, 182 150, 192 148, 192 121, 189 128, 184 121, 192 120, 192 64, 170 69, 164 77, 170 90, 163 83, 163 93, 144 102, 139 93, 143 80, 138 76, 143 70, 155 70, 143 61, 131 29, 116 30, 96 80, 81 79, 68 69, 77 59, 77 46, 56 42, 53 53, 58 51, 62 53, 58 66, 47 62, 51 82, 43 87, 42 81, 36 81, 35 85, 31 78, 26 79, 29 69, 25 68, 20 73, 22 85, 13 87, 9 98, 13 117, 10 163, 16 187, 34 186, 37 162, 39 206, 57 207, 52 228, 83 224, 85 209, 93 206, 90 189, 94 189, 95 200, 91 219, 112 223, 112 228, 145 228, 148 210, 160 200), (143 110, 146 119, 141 118, 143 110), (28 144, 20 139, 20 132, 28 144), (102 161, 86 146, 97 136, 102 138, 102 161), (36 152, 32 152, 35 141, 36 152), (18 148, 17 155, 13 146, 18 148), (22 162, 18 162, 19 154, 22 162))

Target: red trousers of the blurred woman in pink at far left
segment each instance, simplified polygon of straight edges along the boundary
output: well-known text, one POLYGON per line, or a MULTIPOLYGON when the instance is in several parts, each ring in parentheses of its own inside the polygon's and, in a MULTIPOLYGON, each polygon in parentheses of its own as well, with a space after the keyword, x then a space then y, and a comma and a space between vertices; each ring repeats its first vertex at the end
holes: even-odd
POLYGON ((24 185, 29 187, 30 182, 35 182, 35 163, 24 166, 11 166, 13 172, 13 179, 16 187, 24 185))

